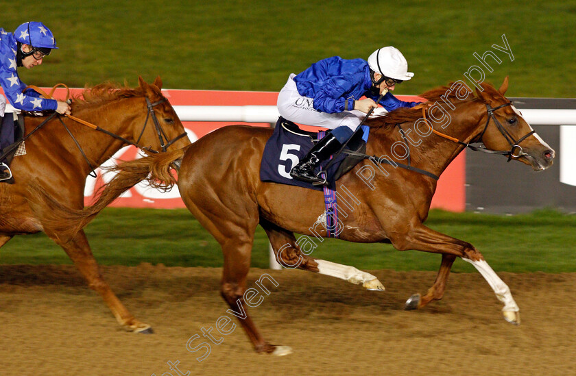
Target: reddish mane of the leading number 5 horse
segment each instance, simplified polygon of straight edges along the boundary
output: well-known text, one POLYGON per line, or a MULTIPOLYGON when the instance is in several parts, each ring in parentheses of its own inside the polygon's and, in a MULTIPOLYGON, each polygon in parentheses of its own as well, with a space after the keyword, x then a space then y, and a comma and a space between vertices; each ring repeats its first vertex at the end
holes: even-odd
MULTIPOLYGON (((439 86, 437 88, 433 88, 432 90, 423 92, 422 94, 418 95, 418 97, 427 99, 428 102, 447 100, 453 103, 454 105, 458 105, 459 103, 467 103, 476 99, 475 95, 473 95, 472 92, 470 92, 470 94, 466 98, 459 99, 456 96, 457 90, 451 90, 453 84, 455 83, 451 82, 449 86, 439 86)), ((492 88, 492 86, 489 86, 488 84, 482 84, 482 86, 484 88, 486 87, 492 88)), ((494 88, 492 88, 492 90, 494 90, 494 88)), ((396 124, 413 123, 421 117, 422 117, 422 110, 420 108, 414 109, 414 108, 400 107, 383 116, 368 118, 368 120, 366 121, 366 125, 374 129, 379 128, 391 129, 396 124)))

